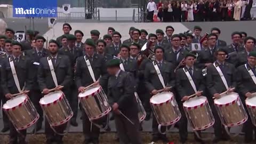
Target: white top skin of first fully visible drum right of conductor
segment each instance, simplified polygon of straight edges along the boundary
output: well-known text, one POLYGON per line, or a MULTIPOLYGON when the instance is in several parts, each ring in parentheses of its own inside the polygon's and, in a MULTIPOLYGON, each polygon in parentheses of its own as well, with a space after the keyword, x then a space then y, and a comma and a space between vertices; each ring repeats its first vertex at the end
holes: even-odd
POLYGON ((173 93, 171 93, 171 92, 162 92, 162 93, 158 93, 158 94, 154 95, 150 99, 150 102, 154 103, 154 104, 159 104, 159 103, 163 103, 163 102, 166 102, 168 100, 171 100, 172 97, 173 97, 173 93))

